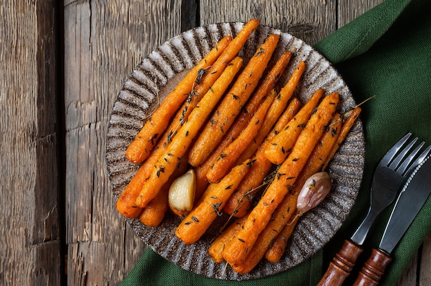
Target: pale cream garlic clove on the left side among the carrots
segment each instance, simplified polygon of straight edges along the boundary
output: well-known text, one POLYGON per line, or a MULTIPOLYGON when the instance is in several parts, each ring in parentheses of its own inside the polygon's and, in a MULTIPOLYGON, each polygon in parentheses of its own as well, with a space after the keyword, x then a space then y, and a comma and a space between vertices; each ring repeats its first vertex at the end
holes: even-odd
POLYGON ((169 207, 175 210, 191 210, 195 199, 196 176, 193 170, 175 179, 169 188, 169 207))

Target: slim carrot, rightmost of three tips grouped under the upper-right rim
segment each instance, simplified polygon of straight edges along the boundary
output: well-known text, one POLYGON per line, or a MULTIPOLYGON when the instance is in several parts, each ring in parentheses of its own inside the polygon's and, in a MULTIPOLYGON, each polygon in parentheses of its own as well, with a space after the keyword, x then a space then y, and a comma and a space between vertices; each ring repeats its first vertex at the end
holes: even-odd
POLYGON ((255 137, 254 142, 249 144, 244 153, 242 153, 240 159, 238 159, 239 162, 242 162, 244 159, 253 156, 257 151, 257 147, 259 147, 259 145, 264 141, 266 135, 269 133, 269 131, 271 131, 273 125, 283 113, 284 109, 286 109, 288 101, 291 100, 293 91, 295 91, 295 88, 299 83, 299 79, 301 78, 302 74, 304 74, 304 70, 305 63, 301 61, 293 71, 291 78, 289 78, 286 85, 284 85, 284 87, 280 90, 280 93, 275 98, 273 104, 271 104, 271 107, 269 107, 268 112, 266 112, 262 128, 255 137))

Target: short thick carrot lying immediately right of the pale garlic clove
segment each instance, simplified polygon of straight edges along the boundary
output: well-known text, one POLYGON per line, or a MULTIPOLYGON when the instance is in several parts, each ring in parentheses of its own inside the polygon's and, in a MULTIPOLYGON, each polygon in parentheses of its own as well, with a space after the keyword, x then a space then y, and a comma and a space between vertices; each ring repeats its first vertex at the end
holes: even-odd
POLYGON ((235 166, 219 183, 211 188, 202 202, 193 208, 189 215, 182 220, 175 231, 176 236, 186 244, 195 243, 200 236, 207 231, 211 223, 220 214, 224 203, 227 201, 233 190, 240 184, 240 181, 250 169, 250 160, 235 166))

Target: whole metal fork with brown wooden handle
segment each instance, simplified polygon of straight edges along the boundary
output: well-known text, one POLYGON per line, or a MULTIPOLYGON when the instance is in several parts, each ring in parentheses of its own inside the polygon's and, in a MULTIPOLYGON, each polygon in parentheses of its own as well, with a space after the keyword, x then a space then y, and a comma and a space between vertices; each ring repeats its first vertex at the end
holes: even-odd
POLYGON ((421 142, 421 144, 410 152, 418 137, 415 137, 401 150, 411 135, 412 133, 404 135, 401 140, 390 148, 377 165, 372 177, 371 201, 368 213, 350 240, 344 241, 341 250, 335 254, 318 286, 342 285, 353 269, 357 257, 361 254, 361 245, 364 243, 377 215, 392 203, 395 197, 397 197, 397 193, 401 189, 403 182, 408 178, 412 170, 430 153, 431 146, 428 146, 425 148, 425 151, 417 156, 425 142, 421 142))

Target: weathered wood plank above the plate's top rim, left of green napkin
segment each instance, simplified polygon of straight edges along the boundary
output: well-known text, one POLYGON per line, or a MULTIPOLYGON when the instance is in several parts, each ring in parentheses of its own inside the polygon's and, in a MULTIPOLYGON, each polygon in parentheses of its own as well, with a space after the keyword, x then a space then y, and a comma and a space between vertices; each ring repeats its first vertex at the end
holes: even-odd
POLYGON ((200 2, 200 23, 260 19, 313 45, 335 31, 336 1, 211 1, 200 2))

